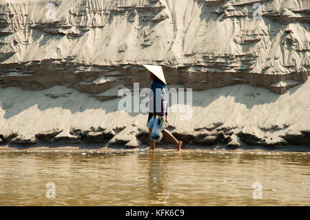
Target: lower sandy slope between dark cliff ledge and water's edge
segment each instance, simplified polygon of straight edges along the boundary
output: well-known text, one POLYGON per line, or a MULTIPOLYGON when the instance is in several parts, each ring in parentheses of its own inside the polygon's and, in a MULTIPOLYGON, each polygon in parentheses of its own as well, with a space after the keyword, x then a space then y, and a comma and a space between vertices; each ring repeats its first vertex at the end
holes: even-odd
MULTIPOLYGON (((203 146, 309 145, 309 95, 309 81, 282 95, 248 85, 193 92, 192 118, 180 120, 185 113, 171 112, 170 106, 169 129, 185 143, 203 146)), ((99 101, 61 86, 39 92, 4 88, 0 134, 12 143, 81 143, 82 139, 129 147, 147 144, 147 115, 119 112, 120 99, 99 101)))

